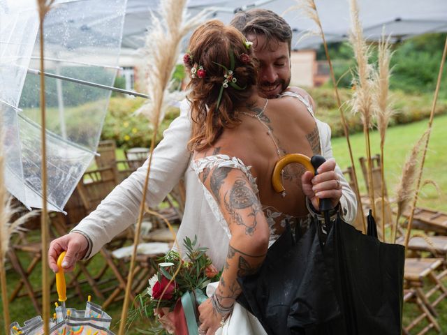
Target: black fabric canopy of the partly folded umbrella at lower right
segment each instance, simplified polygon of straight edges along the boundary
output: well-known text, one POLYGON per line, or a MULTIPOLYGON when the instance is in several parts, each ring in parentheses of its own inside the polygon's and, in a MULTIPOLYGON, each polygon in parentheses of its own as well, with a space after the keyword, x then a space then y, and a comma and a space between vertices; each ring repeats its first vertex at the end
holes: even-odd
POLYGON ((400 334, 404 247, 362 234, 339 215, 326 225, 324 247, 317 221, 298 241, 286 229, 261 269, 239 278, 238 302, 268 334, 400 334))

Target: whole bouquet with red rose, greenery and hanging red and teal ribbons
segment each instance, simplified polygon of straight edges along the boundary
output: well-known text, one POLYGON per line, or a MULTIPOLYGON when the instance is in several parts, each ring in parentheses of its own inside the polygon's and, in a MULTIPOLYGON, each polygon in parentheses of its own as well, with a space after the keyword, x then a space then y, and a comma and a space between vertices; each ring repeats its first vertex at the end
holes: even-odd
POLYGON ((186 237, 183 244, 186 258, 169 251, 153 262, 156 273, 147 290, 135 299, 139 306, 130 311, 128 327, 138 318, 147 318, 151 328, 138 329, 144 334, 197 332, 197 306, 207 299, 206 287, 219 281, 221 271, 212 265, 207 248, 196 246, 196 236, 193 241, 186 237))

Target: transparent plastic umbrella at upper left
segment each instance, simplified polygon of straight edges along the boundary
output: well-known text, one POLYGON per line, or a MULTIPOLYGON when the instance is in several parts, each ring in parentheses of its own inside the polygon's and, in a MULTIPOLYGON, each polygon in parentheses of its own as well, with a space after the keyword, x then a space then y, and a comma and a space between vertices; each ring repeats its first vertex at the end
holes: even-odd
MULTIPOLYGON (((47 206, 63 211, 95 155, 115 81, 126 0, 55 1, 45 17, 47 206), (57 79, 68 77, 78 82, 57 79)), ((0 116, 6 186, 42 207, 36 1, 0 0, 0 116)))

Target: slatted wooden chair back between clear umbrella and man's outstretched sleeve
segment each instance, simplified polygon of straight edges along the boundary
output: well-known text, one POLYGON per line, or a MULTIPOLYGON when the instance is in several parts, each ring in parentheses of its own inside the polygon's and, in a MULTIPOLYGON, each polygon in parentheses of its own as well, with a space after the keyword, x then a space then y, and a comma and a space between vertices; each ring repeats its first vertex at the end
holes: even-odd
POLYGON ((87 171, 78 184, 78 192, 87 213, 90 213, 115 188, 115 169, 87 171))

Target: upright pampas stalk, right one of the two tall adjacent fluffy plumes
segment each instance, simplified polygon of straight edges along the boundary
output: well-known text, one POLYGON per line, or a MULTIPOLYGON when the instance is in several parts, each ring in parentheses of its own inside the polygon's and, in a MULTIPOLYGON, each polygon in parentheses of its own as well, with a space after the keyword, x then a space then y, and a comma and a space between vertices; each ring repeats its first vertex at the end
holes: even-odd
MULTIPOLYGON (((384 168, 384 147, 386 128, 390 122, 391 116, 394 114, 393 107, 390 102, 389 87, 390 87, 390 61, 392 52, 390 51, 390 38, 386 38, 383 32, 381 40, 379 41, 379 67, 375 73, 374 84, 374 103, 376 107, 376 122, 380 134, 380 156, 381 156, 381 199, 382 199, 382 236, 385 237, 385 168, 384 168)), ((384 240, 385 241, 385 240, 384 240)))

